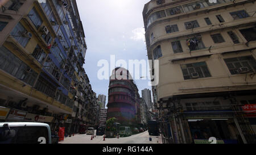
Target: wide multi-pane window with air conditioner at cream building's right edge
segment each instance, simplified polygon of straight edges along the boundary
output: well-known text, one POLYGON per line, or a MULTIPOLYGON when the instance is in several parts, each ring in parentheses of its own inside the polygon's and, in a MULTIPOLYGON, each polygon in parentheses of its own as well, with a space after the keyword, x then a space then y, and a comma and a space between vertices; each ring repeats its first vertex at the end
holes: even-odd
POLYGON ((226 58, 224 61, 232 75, 256 72, 256 61, 252 56, 226 58))

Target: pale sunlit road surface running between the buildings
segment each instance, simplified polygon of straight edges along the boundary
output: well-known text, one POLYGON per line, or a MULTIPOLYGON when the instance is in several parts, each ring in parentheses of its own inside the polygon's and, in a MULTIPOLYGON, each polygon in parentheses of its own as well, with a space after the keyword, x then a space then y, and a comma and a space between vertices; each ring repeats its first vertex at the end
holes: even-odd
POLYGON ((115 138, 104 138, 103 136, 96 136, 91 140, 92 135, 75 135, 72 137, 67 137, 64 141, 60 141, 59 144, 160 144, 162 143, 161 136, 151 136, 152 141, 150 141, 150 135, 148 132, 138 133, 129 137, 117 137, 115 138))

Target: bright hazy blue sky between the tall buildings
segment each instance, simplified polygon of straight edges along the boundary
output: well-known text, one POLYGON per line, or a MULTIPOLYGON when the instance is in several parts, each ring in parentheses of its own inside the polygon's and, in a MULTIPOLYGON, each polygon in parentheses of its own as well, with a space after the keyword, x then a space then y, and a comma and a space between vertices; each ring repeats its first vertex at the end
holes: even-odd
MULTIPOLYGON (((142 16, 147 2, 149 0, 77 0, 88 47, 85 72, 97 96, 106 95, 106 104, 109 79, 101 80, 97 77, 98 70, 102 68, 98 66, 98 61, 107 60, 110 64, 110 55, 115 56, 115 61, 125 60, 127 65, 129 60, 147 61, 142 16)), ((109 76, 110 73, 112 70, 110 72, 109 67, 109 76)), ((151 90, 148 82, 147 78, 135 80, 141 97, 141 90, 151 90)))

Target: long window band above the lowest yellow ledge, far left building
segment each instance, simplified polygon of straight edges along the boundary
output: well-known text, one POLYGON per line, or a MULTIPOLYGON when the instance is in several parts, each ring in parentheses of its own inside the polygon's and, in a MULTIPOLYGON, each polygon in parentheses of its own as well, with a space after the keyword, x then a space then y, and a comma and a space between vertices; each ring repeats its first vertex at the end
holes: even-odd
POLYGON ((0 47, 0 69, 30 86, 34 85, 35 79, 38 76, 38 73, 32 70, 30 66, 24 64, 22 60, 3 46, 0 47))

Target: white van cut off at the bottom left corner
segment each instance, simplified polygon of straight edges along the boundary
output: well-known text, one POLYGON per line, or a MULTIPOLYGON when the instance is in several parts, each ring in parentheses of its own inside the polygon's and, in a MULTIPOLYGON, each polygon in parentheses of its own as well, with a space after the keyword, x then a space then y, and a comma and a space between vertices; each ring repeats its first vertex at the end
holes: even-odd
POLYGON ((51 144, 51 129, 45 123, 0 123, 0 144, 51 144))

